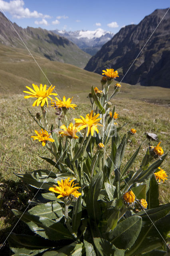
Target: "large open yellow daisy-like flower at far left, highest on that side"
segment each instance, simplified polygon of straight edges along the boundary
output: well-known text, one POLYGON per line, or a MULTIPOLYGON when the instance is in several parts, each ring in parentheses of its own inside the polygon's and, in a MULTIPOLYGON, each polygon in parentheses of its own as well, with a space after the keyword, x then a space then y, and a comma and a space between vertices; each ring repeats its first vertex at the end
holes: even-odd
POLYGON ((37 100, 34 101, 34 103, 32 104, 32 106, 39 106, 41 103, 41 106, 43 106, 45 104, 45 102, 47 103, 48 106, 48 99, 50 98, 52 100, 52 98, 49 95, 55 95, 57 96, 57 93, 51 93, 55 86, 52 87, 52 85, 48 88, 48 90, 46 90, 46 84, 44 84, 44 86, 42 86, 42 84, 40 84, 40 88, 38 88, 38 86, 36 84, 32 84, 34 90, 28 86, 26 86, 26 88, 28 88, 30 90, 30 92, 27 91, 23 91, 26 92, 30 95, 24 96, 25 99, 27 98, 37 98, 37 100))

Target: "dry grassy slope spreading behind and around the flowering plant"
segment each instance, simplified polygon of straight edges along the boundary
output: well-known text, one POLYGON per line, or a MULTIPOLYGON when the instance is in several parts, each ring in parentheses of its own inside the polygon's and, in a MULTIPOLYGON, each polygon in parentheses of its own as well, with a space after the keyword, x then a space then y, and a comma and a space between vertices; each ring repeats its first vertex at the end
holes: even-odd
MULTIPOLYGON (((2 232, 6 232, 11 230, 11 226, 16 221, 15 218, 11 217, 10 209, 23 209, 24 205, 27 205, 28 198, 32 199, 33 194, 35 194, 27 185, 18 181, 13 172, 25 173, 38 168, 51 170, 51 166, 38 156, 48 156, 47 150, 38 141, 33 142, 30 138, 34 135, 34 129, 39 128, 29 116, 26 105, 34 114, 40 110, 37 107, 33 108, 33 101, 24 99, 24 93, 22 93, 26 85, 31 87, 32 82, 37 84, 42 82, 48 85, 49 82, 25 50, 18 51, 4 46, 0 49, 0 56, 0 126, 2 134, 0 143, 0 202, 3 205, 0 228, 2 232), (25 192, 23 192, 24 190, 25 192)), ((72 121, 73 117, 78 118, 80 114, 85 116, 89 113, 90 104, 87 94, 91 90, 91 85, 100 88, 101 76, 69 64, 50 62, 38 54, 35 54, 35 56, 47 78, 56 86, 59 96, 74 96, 73 103, 78 106, 76 111, 70 111, 69 120, 72 121)), ((113 86, 111 86, 111 90, 113 90, 113 86)), ((166 88, 131 86, 122 83, 121 92, 113 101, 113 105, 116 105, 116 112, 120 116, 117 122, 119 125, 128 122, 123 132, 127 132, 130 128, 136 128, 137 130, 136 136, 132 138, 132 143, 127 146, 125 161, 144 141, 138 156, 139 160, 142 158, 149 143, 145 132, 156 133, 158 140, 162 141, 161 146, 164 152, 169 150, 168 120, 170 116, 167 106, 139 100, 156 102, 156 100, 160 101, 161 95, 161 100, 167 104, 168 92, 169 90, 166 88)), ((55 124, 54 110, 51 107, 49 107, 48 114, 51 122, 55 124)), ((150 144, 155 146, 157 142, 151 141, 150 144)), ((138 167, 139 160, 136 160, 134 168, 138 167)), ((162 164, 162 168, 166 170, 170 177, 168 162, 169 157, 162 164)), ((160 184, 161 203, 169 201, 168 184, 169 181, 160 184)), ((1 236, 3 242, 4 234, 1 233, 1 236)))

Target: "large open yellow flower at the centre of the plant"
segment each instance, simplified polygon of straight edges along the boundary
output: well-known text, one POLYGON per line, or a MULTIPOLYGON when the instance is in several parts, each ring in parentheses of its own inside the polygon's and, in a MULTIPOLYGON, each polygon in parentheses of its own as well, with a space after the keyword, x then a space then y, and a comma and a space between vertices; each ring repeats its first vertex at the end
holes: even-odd
POLYGON ((93 136, 94 131, 96 131, 97 133, 99 132, 97 126, 103 126, 102 124, 98 123, 98 121, 101 120, 101 118, 97 118, 98 116, 99 114, 94 114, 93 116, 93 110, 91 110, 90 114, 87 114, 85 118, 83 116, 80 116, 81 118, 75 118, 75 126, 80 126, 79 130, 88 127, 87 136, 89 136, 90 132, 93 136))

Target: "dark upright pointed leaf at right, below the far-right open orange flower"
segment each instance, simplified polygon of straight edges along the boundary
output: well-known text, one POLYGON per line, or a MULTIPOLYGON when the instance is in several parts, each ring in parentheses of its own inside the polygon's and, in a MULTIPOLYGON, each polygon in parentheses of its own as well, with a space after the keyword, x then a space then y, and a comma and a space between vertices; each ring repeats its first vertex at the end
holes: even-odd
POLYGON ((150 178, 150 186, 146 194, 147 208, 152 209, 159 206, 159 186, 154 174, 150 178))

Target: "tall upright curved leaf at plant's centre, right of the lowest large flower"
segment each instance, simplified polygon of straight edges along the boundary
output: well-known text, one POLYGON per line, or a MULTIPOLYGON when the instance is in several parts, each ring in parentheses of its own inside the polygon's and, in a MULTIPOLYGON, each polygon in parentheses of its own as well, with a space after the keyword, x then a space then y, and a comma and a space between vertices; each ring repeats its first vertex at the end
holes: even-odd
POLYGON ((91 220, 99 222, 101 218, 101 209, 97 201, 101 186, 103 184, 103 172, 98 172, 91 180, 89 192, 87 194, 87 212, 91 220))

